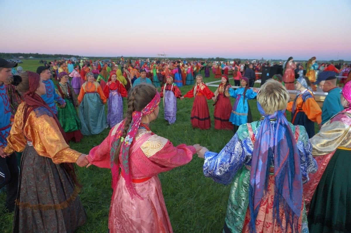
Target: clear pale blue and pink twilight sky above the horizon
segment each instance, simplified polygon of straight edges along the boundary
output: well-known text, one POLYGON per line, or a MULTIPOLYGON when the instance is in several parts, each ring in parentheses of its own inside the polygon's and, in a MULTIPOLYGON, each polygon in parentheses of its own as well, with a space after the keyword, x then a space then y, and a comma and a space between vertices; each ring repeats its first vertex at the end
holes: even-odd
POLYGON ((0 0, 0 52, 351 60, 351 0, 0 0))

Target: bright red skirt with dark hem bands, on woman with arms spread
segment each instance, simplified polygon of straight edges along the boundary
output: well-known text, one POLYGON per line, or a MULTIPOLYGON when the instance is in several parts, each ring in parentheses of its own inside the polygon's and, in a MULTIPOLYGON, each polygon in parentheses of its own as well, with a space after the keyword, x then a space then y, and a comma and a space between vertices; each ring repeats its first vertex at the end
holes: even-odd
POLYGON ((190 120, 193 128, 211 128, 210 112, 208 111, 207 101, 204 95, 195 96, 190 120))

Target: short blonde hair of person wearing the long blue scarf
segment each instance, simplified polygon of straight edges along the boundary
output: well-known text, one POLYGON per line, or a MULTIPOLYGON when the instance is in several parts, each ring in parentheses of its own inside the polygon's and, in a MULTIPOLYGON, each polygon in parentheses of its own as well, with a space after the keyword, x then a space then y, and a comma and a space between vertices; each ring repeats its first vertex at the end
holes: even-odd
POLYGON ((269 79, 260 88, 257 101, 266 114, 273 114, 286 108, 290 95, 286 88, 278 81, 269 79))

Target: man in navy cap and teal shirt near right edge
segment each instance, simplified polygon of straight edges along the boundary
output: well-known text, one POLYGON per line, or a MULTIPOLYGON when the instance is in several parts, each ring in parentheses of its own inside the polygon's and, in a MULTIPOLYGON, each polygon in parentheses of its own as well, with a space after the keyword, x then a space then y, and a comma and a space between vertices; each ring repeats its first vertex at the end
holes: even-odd
POLYGON ((324 92, 328 92, 325 97, 322 108, 322 126, 329 121, 332 116, 342 111, 344 107, 340 100, 340 89, 336 86, 336 73, 332 71, 323 71, 318 75, 318 80, 314 85, 319 84, 324 92))

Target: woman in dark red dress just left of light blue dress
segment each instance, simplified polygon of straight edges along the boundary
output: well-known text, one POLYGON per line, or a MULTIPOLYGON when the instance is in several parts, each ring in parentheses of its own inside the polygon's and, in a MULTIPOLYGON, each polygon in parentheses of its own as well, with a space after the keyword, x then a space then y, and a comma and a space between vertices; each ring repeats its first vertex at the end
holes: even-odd
POLYGON ((231 88, 227 75, 222 75, 221 84, 214 92, 214 128, 233 130, 233 124, 229 121, 232 112, 232 104, 230 103, 230 94, 228 89, 231 88))

